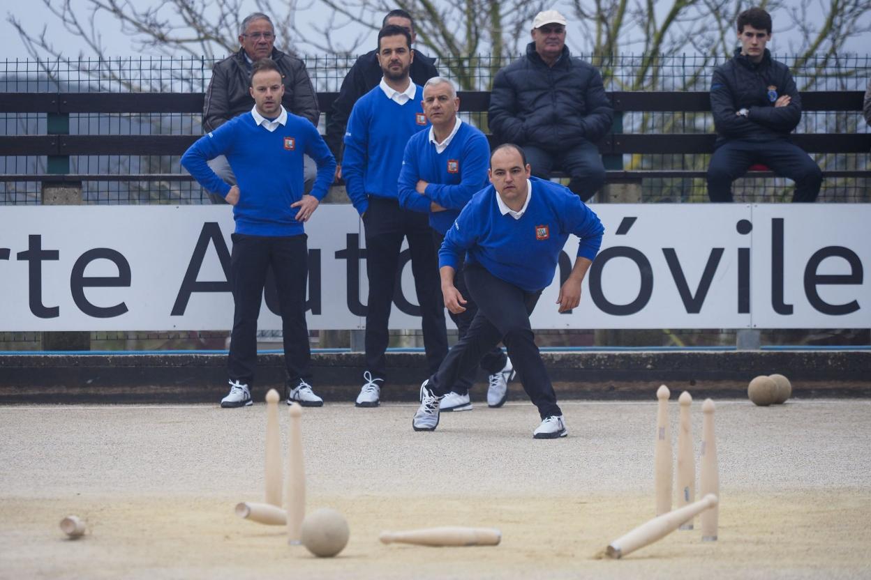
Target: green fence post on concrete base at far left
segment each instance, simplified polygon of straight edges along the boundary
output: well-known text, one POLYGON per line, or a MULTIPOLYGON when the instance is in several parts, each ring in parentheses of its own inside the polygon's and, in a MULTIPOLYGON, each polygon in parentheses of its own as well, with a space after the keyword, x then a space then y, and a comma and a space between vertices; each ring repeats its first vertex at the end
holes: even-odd
MULTIPOLYGON (((58 102, 61 98, 63 98, 62 95, 58 94, 58 102)), ((60 112, 48 113, 46 125, 49 135, 69 135, 70 114, 60 112)), ((56 174, 57 176, 69 174, 70 156, 48 156, 45 169, 48 173, 56 174)), ((84 203, 82 199, 82 182, 65 181, 63 177, 58 177, 57 181, 44 181, 42 183, 42 190, 43 205, 81 205, 84 203)), ((43 332, 42 345, 43 350, 91 350, 91 333, 81 331, 43 332)))

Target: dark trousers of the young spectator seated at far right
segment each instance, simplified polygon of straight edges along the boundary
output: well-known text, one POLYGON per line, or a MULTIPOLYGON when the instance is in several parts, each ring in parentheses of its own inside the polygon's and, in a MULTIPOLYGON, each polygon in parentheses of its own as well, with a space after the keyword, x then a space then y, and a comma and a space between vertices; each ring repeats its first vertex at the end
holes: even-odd
POLYGON ((708 165, 708 197, 712 202, 732 202, 732 182, 746 174, 753 163, 765 163, 775 174, 795 182, 793 202, 813 202, 820 193, 820 167, 798 145, 771 141, 726 141, 714 150, 708 165))

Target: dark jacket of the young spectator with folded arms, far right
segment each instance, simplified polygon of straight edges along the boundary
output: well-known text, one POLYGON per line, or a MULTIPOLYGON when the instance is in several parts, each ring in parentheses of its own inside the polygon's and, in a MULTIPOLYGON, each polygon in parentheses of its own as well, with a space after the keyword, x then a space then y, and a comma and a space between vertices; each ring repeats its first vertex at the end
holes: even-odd
POLYGON ((801 97, 787 65, 774 60, 768 49, 758 64, 736 49, 713 71, 711 110, 718 145, 728 139, 788 139, 801 119, 801 97), (782 95, 789 95, 789 104, 775 107, 782 95), (741 109, 749 115, 736 115, 741 109))

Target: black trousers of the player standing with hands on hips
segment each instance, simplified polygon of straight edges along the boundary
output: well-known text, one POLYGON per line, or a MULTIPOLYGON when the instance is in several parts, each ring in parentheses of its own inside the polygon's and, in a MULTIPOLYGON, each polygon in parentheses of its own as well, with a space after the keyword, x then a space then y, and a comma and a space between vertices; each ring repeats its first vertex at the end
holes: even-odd
POLYGON ((284 363, 291 383, 309 380, 306 285, 307 236, 261 237, 233 234, 230 277, 233 287, 233 334, 227 370, 230 379, 253 384, 257 365, 257 317, 267 269, 272 268, 284 331, 284 363))

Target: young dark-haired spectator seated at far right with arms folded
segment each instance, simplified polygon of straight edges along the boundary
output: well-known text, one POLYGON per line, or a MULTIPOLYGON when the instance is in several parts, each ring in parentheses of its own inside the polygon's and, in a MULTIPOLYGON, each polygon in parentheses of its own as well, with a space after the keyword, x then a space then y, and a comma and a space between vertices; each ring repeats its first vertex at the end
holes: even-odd
POLYGON ((793 202, 813 202, 820 193, 820 168, 789 138, 801 118, 801 97, 787 65, 773 60, 766 49, 771 30, 765 10, 741 12, 741 46, 713 72, 717 143, 707 171, 712 202, 732 202, 732 182, 755 163, 795 182, 793 202))

